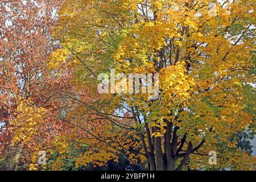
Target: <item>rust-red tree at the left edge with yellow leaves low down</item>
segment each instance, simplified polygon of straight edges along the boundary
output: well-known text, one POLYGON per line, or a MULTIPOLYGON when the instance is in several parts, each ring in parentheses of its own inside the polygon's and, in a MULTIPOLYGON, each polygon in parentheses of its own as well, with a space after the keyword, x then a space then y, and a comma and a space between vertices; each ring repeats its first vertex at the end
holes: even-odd
POLYGON ((47 103, 48 88, 56 87, 51 86, 54 78, 47 77, 46 62, 54 47, 49 30, 59 5, 0 2, 0 155, 6 170, 17 169, 18 163, 27 169, 30 152, 54 133, 45 119, 53 108, 47 103))

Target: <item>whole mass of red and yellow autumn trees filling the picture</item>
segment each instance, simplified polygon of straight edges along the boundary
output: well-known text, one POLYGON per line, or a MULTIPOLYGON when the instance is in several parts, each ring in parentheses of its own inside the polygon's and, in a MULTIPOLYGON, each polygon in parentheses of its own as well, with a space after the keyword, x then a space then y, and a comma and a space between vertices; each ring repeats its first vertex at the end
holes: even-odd
POLYGON ((0 3, 1 151, 22 146, 30 169, 255 169, 241 144, 255 131, 254 0, 52 1, 29 18, 39 7, 0 3), (158 73, 158 97, 125 92, 121 77, 98 93, 113 69, 158 73), (51 157, 38 166, 42 150, 51 157))

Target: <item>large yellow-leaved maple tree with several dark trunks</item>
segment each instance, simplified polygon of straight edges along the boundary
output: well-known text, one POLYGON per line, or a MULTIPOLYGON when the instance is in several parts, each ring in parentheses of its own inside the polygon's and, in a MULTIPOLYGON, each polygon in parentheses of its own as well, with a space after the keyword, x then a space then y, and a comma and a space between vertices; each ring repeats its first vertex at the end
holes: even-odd
MULTIPOLYGON (((126 75, 159 73, 156 100, 142 93, 105 94, 95 107, 77 99, 85 110, 111 119, 122 117, 115 112, 122 110, 121 126, 139 138, 151 170, 252 169, 255 158, 232 137, 255 130, 254 10, 254 0, 69 0, 53 32, 61 47, 48 67, 72 68, 75 82, 95 94, 98 74, 110 68, 126 75), (208 164, 209 151, 217 152, 216 166, 208 164)), ((90 144, 105 143, 112 157, 121 152, 100 133, 93 137, 90 144)))

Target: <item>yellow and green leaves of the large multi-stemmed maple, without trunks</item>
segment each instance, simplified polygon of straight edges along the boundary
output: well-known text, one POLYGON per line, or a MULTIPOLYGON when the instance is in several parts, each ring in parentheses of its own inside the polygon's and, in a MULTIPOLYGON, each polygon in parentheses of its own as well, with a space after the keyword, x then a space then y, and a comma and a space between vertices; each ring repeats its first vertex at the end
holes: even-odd
MULTIPOLYGON (((110 108, 100 110, 112 114, 125 103, 129 109, 137 109, 137 113, 129 114, 138 114, 138 120, 143 117, 143 122, 148 123, 152 138, 164 140, 170 122, 171 132, 178 129, 179 142, 186 134, 194 146, 205 139, 210 147, 233 150, 236 142, 230 142, 230 136, 249 127, 254 117, 245 110, 247 98, 243 95, 243 86, 254 82, 248 72, 253 67, 255 49, 249 26, 253 24, 254 2, 214 2, 216 12, 212 13, 212 1, 208 0, 67 1, 54 34, 62 48, 52 53, 49 67, 60 69, 72 64, 77 80, 109 68, 120 73, 159 73, 158 100, 147 100, 146 94, 108 96, 110 108), (245 20, 246 17, 249 18, 245 20), (81 63, 66 62, 69 56, 79 57, 81 63)), ((145 123, 134 122, 129 126, 141 129, 138 133, 144 136, 145 123)), ((127 150, 125 155, 130 162, 137 162, 139 158, 127 148, 138 149, 141 143, 129 140, 124 135, 127 130, 104 127, 102 133, 93 130, 100 139, 82 140, 91 147, 76 166, 103 166, 110 159, 117 160, 121 148, 127 150), (114 132, 109 133, 110 130, 114 132), (122 147, 110 139, 118 140, 122 147)), ((131 134, 133 139, 138 139, 138 133, 131 134)), ((201 149, 205 152, 210 147, 201 149)), ((228 155, 226 158, 235 159, 238 152, 228 155)), ((198 156, 192 159, 208 165, 198 156)), ((199 167, 193 163, 191 168, 199 167)))

